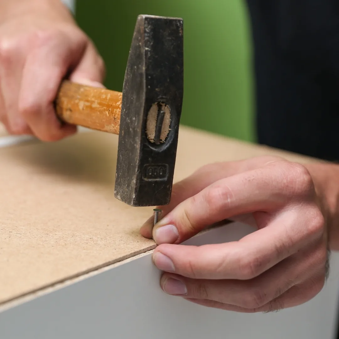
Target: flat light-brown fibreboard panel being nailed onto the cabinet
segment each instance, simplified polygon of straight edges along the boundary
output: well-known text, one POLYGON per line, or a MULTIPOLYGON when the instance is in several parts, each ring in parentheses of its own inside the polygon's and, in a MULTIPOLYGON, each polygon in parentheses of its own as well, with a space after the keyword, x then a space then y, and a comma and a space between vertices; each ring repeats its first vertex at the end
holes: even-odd
MULTIPOLYGON (((0 304, 154 248, 139 235, 152 207, 114 198, 117 143, 88 132, 0 149, 0 304)), ((310 160, 182 126, 175 181, 264 154, 310 160)))

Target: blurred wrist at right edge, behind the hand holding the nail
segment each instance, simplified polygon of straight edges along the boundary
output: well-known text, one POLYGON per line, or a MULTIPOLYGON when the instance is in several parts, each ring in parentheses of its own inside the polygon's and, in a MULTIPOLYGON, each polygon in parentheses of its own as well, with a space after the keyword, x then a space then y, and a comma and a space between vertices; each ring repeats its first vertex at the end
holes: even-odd
POLYGON ((330 249, 339 251, 339 165, 313 163, 306 167, 324 211, 330 249))

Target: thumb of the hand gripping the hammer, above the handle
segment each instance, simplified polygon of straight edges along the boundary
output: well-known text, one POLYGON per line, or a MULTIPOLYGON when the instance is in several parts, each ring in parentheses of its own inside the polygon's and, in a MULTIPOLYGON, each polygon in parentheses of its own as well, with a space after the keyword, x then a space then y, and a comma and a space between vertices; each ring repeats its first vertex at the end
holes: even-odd
POLYGON ((105 88, 102 84, 105 72, 103 59, 94 44, 89 41, 81 61, 72 72, 69 80, 86 86, 105 88))

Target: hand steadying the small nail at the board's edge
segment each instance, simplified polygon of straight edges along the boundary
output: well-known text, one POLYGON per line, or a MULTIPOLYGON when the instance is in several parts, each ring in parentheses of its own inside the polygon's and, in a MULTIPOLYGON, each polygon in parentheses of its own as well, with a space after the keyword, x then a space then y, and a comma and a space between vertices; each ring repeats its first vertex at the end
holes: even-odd
POLYGON ((327 275, 326 212, 307 169, 262 157, 205 166, 173 186, 162 218, 141 228, 159 245, 153 262, 167 294, 238 312, 304 303, 327 275), (181 243, 206 226, 250 214, 257 231, 239 241, 181 243))

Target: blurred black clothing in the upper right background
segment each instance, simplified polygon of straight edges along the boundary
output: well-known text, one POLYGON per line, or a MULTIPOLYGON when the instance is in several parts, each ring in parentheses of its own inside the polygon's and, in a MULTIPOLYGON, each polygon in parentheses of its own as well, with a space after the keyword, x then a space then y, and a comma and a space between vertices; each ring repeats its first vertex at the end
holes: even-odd
POLYGON ((339 1, 247 0, 258 141, 339 160, 339 1))

